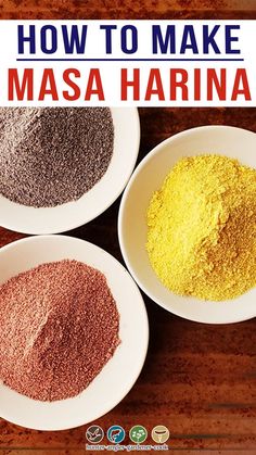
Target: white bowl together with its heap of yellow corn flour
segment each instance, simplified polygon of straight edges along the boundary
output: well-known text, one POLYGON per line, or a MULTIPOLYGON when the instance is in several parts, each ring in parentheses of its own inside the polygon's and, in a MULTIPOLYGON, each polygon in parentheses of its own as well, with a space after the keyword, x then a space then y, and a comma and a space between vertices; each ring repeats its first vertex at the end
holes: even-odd
POLYGON ((126 188, 118 235, 131 275, 169 312, 256 316, 256 134, 203 126, 158 144, 126 188))

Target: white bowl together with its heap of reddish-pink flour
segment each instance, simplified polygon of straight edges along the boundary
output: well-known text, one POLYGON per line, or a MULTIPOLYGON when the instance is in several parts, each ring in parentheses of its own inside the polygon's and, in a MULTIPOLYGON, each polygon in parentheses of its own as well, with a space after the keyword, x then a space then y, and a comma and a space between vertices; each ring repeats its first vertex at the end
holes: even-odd
POLYGON ((149 324, 140 291, 92 243, 36 236, 3 247, 0 308, 0 416, 9 421, 38 430, 88 424, 141 371, 149 324))

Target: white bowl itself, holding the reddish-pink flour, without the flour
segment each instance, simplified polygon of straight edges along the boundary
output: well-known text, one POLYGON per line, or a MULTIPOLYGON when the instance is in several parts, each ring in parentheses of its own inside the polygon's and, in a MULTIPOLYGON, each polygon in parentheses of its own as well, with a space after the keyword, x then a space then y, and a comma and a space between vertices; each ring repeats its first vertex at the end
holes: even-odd
POLYGON ((38 430, 78 427, 111 410, 136 382, 148 350, 148 316, 138 287, 113 256, 92 243, 64 236, 13 242, 0 250, 0 283, 39 264, 63 258, 81 261, 105 275, 120 315, 121 342, 89 387, 73 399, 39 402, 0 382, 0 416, 38 430))

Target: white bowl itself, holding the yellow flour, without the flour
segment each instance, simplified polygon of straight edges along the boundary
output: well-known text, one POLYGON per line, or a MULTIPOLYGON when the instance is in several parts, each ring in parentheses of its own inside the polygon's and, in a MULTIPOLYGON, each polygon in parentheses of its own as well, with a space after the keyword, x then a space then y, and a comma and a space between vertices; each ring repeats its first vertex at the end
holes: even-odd
POLYGON ((164 308, 200 323, 236 323, 256 316, 256 289, 227 302, 176 295, 161 283, 145 250, 146 211, 153 192, 179 159, 202 153, 227 155, 256 167, 256 135, 229 126, 203 126, 157 146, 137 167, 123 195, 118 218, 120 249, 141 289, 164 308))

